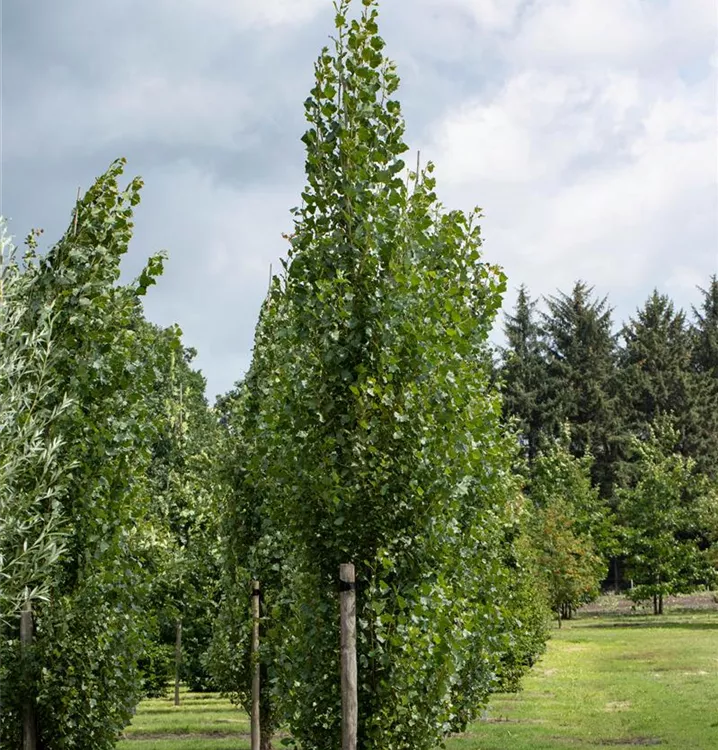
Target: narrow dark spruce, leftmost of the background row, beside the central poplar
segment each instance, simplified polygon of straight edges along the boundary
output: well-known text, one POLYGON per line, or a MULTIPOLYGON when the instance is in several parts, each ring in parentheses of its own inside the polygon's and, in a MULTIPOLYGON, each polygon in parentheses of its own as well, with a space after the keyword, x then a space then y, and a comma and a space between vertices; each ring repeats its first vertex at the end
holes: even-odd
POLYGON ((516 420, 522 452, 530 462, 536 458, 541 444, 547 395, 545 347, 536 319, 536 305, 522 284, 514 314, 505 315, 507 345, 501 352, 504 415, 516 420))

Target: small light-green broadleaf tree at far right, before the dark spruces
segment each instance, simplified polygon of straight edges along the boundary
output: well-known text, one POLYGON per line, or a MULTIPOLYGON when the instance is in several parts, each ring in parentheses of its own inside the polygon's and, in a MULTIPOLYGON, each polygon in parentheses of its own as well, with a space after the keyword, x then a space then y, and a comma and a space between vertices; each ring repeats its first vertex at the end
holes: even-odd
POLYGON ((631 596, 637 601, 654 597, 656 613, 663 596, 710 582, 701 551, 707 531, 702 522, 710 519, 705 514, 710 488, 695 462, 676 452, 679 441, 666 420, 650 428, 647 441, 635 440, 638 479, 619 492, 629 572, 637 584, 631 596))

